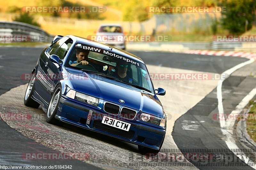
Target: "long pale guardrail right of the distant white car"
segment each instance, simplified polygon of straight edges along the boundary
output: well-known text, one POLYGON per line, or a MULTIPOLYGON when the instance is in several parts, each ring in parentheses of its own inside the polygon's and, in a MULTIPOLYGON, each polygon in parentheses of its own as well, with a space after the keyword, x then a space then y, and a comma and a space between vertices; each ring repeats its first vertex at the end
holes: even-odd
POLYGON ((256 52, 255 42, 127 42, 129 50, 184 51, 184 50, 223 50, 256 52))

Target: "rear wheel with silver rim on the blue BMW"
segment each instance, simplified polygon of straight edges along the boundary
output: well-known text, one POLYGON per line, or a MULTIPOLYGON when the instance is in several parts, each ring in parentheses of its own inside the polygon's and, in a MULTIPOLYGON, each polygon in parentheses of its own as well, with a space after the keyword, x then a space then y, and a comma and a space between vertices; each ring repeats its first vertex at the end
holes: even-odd
POLYGON ((36 80, 36 74, 32 74, 31 79, 28 82, 28 87, 26 89, 26 93, 24 96, 24 104, 28 107, 38 108, 40 104, 31 98, 35 90, 35 86, 34 86, 35 80, 36 80))

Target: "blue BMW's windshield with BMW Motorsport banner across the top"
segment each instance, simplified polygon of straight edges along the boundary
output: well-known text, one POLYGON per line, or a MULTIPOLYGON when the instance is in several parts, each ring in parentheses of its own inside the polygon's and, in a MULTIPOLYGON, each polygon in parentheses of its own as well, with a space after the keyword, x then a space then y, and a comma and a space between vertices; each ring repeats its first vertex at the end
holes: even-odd
POLYGON ((122 81, 153 93, 153 86, 144 63, 98 47, 76 44, 67 67, 122 81))

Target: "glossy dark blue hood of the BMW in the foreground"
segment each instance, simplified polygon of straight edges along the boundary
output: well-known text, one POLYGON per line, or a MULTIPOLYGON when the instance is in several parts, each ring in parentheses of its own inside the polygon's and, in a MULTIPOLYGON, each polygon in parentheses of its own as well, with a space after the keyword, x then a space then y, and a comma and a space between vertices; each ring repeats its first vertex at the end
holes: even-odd
POLYGON ((155 116, 162 117, 163 115, 161 103, 153 95, 143 90, 101 76, 94 79, 92 78, 94 75, 90 73, 83 73, 84 76, 81 76, 81 71, 78 75, 77 71, 68 70, 68 73, 71 75, 75 90, 78 92, 155 116), (72 74, 76 74, 76 76, 72 74), (124 100, 124 103, 120 103, 120 99, 124 100))

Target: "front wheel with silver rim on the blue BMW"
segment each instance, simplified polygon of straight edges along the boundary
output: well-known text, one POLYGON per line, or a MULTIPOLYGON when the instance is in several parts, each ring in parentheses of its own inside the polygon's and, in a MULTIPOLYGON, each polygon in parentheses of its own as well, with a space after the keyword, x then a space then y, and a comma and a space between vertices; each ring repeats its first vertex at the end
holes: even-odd
POLYGON ((55 115, 57 114, 57 110, 60 104, 60 96, 61 96, 61 86, 58 85, 51 97, 51 100, 48 105, 48 109, 46 111, 46 122, 49 124, 55 124, 58 126, 62 126, 64 122, 55 119, 55 115))

